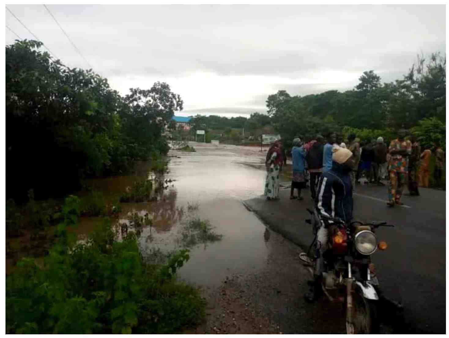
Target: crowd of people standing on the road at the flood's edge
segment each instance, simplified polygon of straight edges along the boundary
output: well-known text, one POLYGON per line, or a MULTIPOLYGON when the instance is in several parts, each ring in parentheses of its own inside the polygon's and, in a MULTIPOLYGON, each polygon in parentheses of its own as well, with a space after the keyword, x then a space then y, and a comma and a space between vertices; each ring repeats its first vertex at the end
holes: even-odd
MULTIPOLYGON (((351 152, 352 167, 348 174, 352 192, 361 184, 363 176, 366 184, 383 186, 383 181, 388 181, 388 206, 403 204, 401 196, 405 185, 410 196, 419 196, 418 187, 429 186, 432 150, 436 155, 434 179, 436 185, 440 186, 445 162, 440 144, 427 146, 422 151, 416 136, 411 135, 406 139, 405 129, 399 130, 397 134, 398 137, 391 140, 389 146, 383 137, 361 144, 355 134, 349 135, 347 140, 339 139, 335 133, 326 135, 326 139, 317 135, 313 140, 305 142, 299 136, 295 137, 291 149, 293 166, 290 198, 303 200, 301 191, 309 186, 312 199, 317 200, 319 179, 324 172, 332 169, 332 155, 337 149, 348 149, 351 152)), ((283 149, 282 141, 277 140, 270 146, 265 160, 267 176, 264 195, 268 200, 279 198, 279 173, 285 164, 286 149, 283 149)))

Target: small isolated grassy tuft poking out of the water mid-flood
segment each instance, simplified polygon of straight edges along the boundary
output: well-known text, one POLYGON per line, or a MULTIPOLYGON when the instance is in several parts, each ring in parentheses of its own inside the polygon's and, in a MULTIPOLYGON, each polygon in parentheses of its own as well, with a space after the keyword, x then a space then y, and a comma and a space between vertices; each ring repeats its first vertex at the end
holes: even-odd
POLYGON ((220 241, 223 235, 216 233, 208 219, 190 218, 182 224, 178 242, 185 247, 220 241))

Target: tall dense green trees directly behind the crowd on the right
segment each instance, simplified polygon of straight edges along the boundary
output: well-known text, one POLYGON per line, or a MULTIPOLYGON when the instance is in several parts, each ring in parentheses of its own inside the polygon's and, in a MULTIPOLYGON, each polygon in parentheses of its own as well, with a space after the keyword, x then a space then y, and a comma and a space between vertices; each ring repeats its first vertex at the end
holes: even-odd
POLYGON ((362 138, 365 142, 371 140, 370 132, 382 131, 389 138, 396 136, 395 131, 402 126, 413 130, 423 119, 444 124, 446 60, 432 54, 427 65, 424 63, 425 59, 418 57, 418 66, 412 66, 404 79, 394 83, 382 84, 370 70, 363 73, 353 90, 346 92, 331 90, 300 97, 281 90, 267 99, 271 123, 287 140, 295 135, 308 138, 327 132, 343 137, 341 130, 349 127, 365 130, 360 135, 366 135, 366 139, 362 138))

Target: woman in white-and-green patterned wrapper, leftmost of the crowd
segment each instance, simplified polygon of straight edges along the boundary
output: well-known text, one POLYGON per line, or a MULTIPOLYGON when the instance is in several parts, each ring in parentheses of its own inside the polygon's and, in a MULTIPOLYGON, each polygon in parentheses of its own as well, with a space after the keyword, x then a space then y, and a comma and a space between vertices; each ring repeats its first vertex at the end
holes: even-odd
POLYGON ((273 142, 268 149, 265 158, 265 167, 267 169, 267 178, 265 179, 264 195, 267 200, 279 198, 279 171, 284 163, 284 152, 282 150, 281 140, 273 142))

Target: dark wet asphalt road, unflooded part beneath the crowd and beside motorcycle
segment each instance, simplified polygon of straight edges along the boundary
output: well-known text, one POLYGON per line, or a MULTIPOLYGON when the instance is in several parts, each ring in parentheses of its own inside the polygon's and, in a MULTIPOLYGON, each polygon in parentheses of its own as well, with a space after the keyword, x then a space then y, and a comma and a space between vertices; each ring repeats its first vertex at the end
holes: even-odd
MULTIPOLYGON (((404 307, 398 333, 445 333, 446 281, 445 191, 420 189, 420 197, 403 196, 405 206, 386 206, 387 188, 358 185, 354 196, 354 219, 384 220, 395 228, 379 228, 377 236, 388 244, 372 260, 387 297, 404 307)), ((289 200, 290 189, 281 189, 281 200, 259 197, 245 201, 260 217, 306 249, 313 240, 306 207, 312 207, 309 192, 304 201, 289 200)), ((407 189, 405 189, 407 193, 407 189)))

